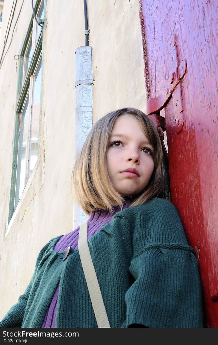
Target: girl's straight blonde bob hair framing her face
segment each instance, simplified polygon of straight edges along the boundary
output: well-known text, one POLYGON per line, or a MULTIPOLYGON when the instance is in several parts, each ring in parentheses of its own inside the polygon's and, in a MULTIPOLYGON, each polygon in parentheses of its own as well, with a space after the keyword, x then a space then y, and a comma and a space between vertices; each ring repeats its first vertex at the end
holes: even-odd
POLYGON ((100 118, 89 132, 72 171, 74 193, 83 211, 90 215, 97 209, 113 211, 113 205, 125 204, 108 175, 106 155, 112 127, 118 116, 131 115, 138 119, 142 130, 153 146, 154 171, 148 185, 137 195, 129 196, 131 205, 141 205, 152 197, 169 199, 169 180, 163 161, 162 143, 152 120, 141 110, 123 108, 100 118))

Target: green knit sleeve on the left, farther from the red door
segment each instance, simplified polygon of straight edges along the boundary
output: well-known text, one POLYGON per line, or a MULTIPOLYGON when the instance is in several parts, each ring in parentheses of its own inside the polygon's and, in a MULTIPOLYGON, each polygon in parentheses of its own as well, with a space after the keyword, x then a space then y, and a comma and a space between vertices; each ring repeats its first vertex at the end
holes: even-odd
POLYGON ((32 284, 35 280, 35 275, 37 272, 37 269, 41 263, 42 257, 46 251, 46 249, 48 248, 48 246, 50 245, 51 241, 53 239, 51 239, 40 251, 38 258, 37 258, 37 262, 35 265, 35 270, 34 273, 32 275, 32 278, 30 280, 30 283, 28 284, 27 288, 25 289, 24 293, 22 295, 20 295, 20 297, 18 298, 18 302, 16 304, 14 304, 10 310, 8 311, 8 313, 4 316, 4 318, 0 321, 0 327, 21 327, 22 322, 23 322, 23 316, 25 313, 25 309, 27 306, 27 302, 28 302, 28 298, 29 298, 29 294, 31 292, 31 287, 32 284))

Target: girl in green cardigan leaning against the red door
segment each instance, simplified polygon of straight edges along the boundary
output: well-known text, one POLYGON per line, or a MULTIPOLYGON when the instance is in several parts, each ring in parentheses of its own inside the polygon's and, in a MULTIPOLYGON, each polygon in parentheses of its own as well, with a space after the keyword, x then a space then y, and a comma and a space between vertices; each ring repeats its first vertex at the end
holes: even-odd
MULTIPOLYGON (((201 285, 169 198, 162 143, 140 110, 96 122, 73 169, 89 215, 87 239, 111 327, 203 327, 201 285)), ((97 327, 78 246, 80 227, 39 253, 1 327, 97 327)))

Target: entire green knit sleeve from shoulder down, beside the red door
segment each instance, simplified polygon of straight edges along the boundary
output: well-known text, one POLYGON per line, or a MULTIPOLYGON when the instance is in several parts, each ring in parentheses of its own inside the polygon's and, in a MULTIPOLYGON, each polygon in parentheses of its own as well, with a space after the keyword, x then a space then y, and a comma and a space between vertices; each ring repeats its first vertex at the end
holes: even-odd
POLYGON ((174 205, 157 198, 136 207, 131 228, 135 281, 122 327, 204 327, 198 264, 174 205))

